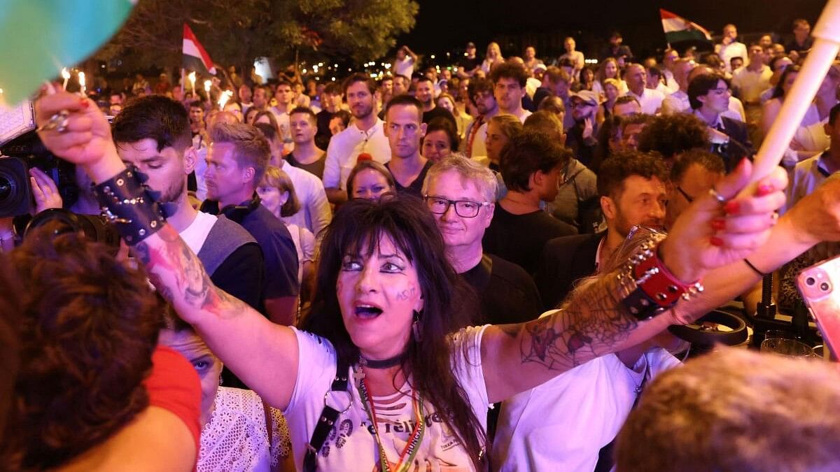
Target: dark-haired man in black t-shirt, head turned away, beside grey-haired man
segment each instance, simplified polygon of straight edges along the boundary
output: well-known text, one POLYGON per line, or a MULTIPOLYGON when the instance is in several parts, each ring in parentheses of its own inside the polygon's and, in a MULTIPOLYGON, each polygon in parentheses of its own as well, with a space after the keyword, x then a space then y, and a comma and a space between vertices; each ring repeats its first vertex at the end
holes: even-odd
POLYGON ((548 134, 526 130, 511 140, 501 155, 507 195, 496 205, 484 235, 486 252, 533 274, 549 239, 577 233, 574 226, 539 207, 540 202, 553 202, 557 197, 561 174, 570 159, 570 150, 548 134))

